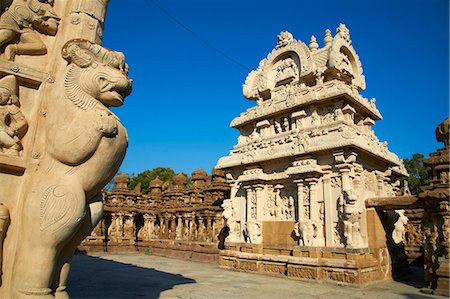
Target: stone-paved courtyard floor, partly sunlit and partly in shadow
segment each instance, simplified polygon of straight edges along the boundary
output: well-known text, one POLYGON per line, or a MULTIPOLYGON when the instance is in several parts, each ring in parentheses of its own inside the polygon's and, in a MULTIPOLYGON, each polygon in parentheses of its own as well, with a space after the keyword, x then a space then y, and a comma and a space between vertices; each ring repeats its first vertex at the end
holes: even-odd
MULTIPOLYGON (((414 284, 414 283, 410 283, 414 284)), ((77 254, 71 298, 444 298, 399 282, 358 288, 220 269, 215 264, 139 254, 77 254)))

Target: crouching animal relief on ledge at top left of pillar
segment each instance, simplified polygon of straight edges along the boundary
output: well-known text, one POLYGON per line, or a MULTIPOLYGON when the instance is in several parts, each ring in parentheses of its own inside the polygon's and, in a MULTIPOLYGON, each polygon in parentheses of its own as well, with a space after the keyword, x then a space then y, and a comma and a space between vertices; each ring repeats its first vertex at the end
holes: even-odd
POLYGON ((5 58, 46 54, 38 33, 55 35, 59 20, 53 0, 13 0, 0 16, 0 49, 4 47, 5 58))

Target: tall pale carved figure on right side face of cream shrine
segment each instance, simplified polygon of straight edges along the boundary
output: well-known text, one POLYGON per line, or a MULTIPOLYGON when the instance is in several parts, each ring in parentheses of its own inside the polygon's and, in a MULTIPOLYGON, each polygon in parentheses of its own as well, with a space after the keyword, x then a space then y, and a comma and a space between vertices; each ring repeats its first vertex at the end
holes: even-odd
POLYGON ((362 209, 356 205, 356 197, 351 190, 344 190, 341 195, 344 206, 344 237, 348 248, 361 246, 361 217, 362 209))

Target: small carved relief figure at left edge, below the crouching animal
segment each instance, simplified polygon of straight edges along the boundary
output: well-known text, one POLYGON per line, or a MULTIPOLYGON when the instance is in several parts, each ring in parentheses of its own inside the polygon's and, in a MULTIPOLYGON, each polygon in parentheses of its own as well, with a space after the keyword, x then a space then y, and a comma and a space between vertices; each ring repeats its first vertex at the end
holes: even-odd
POLYGON ((16 77, 0 79, 0 152, 19 156, 20 140, 27 130, 27 121, 19 108, 16 77))

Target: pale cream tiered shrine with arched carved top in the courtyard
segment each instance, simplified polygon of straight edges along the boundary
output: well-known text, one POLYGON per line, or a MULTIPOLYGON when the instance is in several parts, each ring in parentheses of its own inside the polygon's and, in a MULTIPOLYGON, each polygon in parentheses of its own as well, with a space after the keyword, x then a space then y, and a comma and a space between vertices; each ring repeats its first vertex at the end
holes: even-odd
POLYGON ((280 33, 245 81, 256 106, 231 122, 237 145, 216 166, 231 184, 221 267, 344 284, 391 277, 385 232, 365 199, 395 196, 407 173, 375 136, 382 117, 364 89, 345 25, 326 30, 323 47, 280 33))

